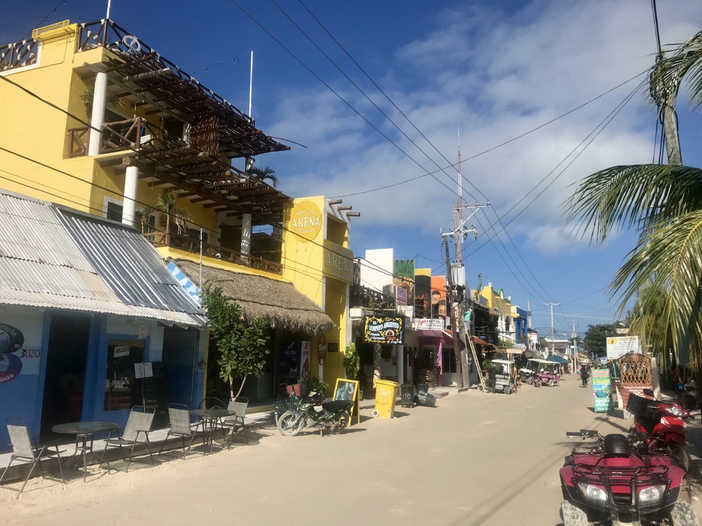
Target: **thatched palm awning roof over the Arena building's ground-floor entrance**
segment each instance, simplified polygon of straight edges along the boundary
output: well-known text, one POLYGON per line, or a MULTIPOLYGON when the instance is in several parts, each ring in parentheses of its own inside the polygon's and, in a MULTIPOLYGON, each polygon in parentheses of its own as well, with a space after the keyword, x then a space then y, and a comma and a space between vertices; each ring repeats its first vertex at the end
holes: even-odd
MULTIPOLYGON (((189 259, 173 259, 192 283, 200 287, 200 265, 189 259)), ((331 318, 285 281, 202 265, 202 281, 222 289, 223 295, 241 306, 244 318, 263 318, 273 328, 319 335, 334 326, 331 318)))

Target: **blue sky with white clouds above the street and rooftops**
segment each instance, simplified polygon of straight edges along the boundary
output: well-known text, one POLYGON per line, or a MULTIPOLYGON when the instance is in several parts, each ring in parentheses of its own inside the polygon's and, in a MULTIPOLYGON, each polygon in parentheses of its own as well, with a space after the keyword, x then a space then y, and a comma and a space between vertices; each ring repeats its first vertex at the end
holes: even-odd
MULTIPOLYGON (((277 1, 284 12, 267 0, 237 3, 265 30, 232 0, 113 0, 111 18, 185 71, 200 70, 201 83, 244 112, 253 50, 257 125, 306 146, 258 163, 276 170, 290 196, 343 196, 361 213, 352 220, 357 255, 392 247, 397 259, 444 273, 439 229, 453 225, 460 128, 463 197, 491 202, 470 222, 478 237, 465 245, 468 285, 482 274, 513 304, 529 302, 544 335, 545 302, 560 303, 559 336, 574 322, 582 333, 612 321, 616 301, 605 289, 635 240, 623 233, 590 246, 564 225, 563 203, 586 175, 653 158, 656 116, 636 77, 655 52, 649 2, 277 1)), ((98 20, 106 8, 106 0, 15 3, 0 42, 42 22, 98 20)), ((702 4, 658 1, 658 18, 663 44, 680 43, 702 29, 702 4)), ((702 116, 685 97, 678 112, 683 161, 702 166, 702 116)))

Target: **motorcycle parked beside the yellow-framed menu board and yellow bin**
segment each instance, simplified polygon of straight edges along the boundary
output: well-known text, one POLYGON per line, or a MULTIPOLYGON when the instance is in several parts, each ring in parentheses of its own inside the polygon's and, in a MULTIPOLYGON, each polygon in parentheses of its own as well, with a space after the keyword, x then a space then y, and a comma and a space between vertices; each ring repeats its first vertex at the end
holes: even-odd
POLYGON ((351 421, 350 410, 354 400, 331 400, 324 402, 324 395, 312 391, 310 396, 300 398, 297 406, 287 410, 277 419, 278 431, 283 436, 296 436, 303 429, 319 429, 341 433, 351 421), (322 406, 320 410, 315 407, 322 406))

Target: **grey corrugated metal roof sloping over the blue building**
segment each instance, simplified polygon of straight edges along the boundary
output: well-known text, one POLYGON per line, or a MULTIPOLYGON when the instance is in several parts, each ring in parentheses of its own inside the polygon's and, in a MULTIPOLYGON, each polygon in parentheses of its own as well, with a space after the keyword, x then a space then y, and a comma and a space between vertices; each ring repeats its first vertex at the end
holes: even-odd
POLYGON ((204 325, 134 229, 7 191, 0 220, 0 303, 204 325))

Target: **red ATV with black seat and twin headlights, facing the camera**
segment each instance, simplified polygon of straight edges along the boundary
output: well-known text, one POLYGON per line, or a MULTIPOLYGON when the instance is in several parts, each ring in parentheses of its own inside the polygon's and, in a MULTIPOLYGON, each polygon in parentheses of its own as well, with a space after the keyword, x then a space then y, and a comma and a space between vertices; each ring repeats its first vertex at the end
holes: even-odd
POLYGON ((564 526, 699 526, 685 471, 670 454, 633 453, 619 434, 582 429, 566 435, 597 443, 574 448, 560 470, 564 526))

